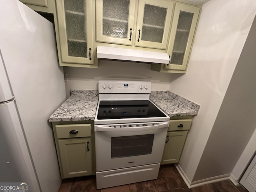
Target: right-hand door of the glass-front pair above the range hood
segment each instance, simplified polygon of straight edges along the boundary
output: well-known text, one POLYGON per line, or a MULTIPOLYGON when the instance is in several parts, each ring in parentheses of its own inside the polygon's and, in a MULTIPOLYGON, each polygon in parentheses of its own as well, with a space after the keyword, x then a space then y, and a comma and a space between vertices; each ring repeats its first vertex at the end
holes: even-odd
POLYGON ((140 0, 135 46, 166 49, 174 3, 167 0, 140 0))

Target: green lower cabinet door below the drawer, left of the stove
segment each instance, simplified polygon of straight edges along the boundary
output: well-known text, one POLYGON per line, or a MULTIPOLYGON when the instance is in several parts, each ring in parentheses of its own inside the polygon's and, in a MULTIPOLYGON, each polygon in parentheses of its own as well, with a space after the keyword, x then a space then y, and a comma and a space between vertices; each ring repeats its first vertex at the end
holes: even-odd
POLYGON ((58 140, 63 178, 92 174, 92 140, 72 138, 58 140))

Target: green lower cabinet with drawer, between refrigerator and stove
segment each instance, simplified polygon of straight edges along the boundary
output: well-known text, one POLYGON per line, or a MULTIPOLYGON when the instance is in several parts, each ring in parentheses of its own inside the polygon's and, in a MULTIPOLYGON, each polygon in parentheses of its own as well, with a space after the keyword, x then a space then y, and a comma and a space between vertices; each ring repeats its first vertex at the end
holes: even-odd
POLYGON ((94 174, 92 124, 53 123, 53 130, 61 177, 94 174))

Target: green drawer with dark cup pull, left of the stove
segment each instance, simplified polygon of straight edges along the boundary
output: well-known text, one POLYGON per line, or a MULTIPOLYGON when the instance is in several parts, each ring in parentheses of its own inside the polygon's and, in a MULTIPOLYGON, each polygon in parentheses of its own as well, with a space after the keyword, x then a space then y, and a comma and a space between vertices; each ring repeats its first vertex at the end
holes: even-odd
POLYGON ((57 138, 90 137, 91 124, 56 125, 57 138), (70 134, 70 131, 78 131, 70 134))

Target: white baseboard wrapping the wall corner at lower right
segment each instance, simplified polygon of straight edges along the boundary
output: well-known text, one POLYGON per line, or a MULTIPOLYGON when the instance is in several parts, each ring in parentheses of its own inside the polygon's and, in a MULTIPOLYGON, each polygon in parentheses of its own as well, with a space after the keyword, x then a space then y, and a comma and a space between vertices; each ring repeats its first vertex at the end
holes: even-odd
POLYGON ((225 174, 225 175, 220 175, 220 176, 216 176, 216 177, 211 177, 211 178, 206 178, 206 179, 191 182, 179 164, 175 164, 175 167, 178 170, 178 172, 180 173, 180 175, 182 176, 182 178, 183 178, 184 182, 186 183, 186 185, 188 186, 188 188, 194 188, 194 187, 202 186, 205 184, 210 184, 210 183, 230 179, 230 174, 225 174))

